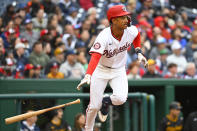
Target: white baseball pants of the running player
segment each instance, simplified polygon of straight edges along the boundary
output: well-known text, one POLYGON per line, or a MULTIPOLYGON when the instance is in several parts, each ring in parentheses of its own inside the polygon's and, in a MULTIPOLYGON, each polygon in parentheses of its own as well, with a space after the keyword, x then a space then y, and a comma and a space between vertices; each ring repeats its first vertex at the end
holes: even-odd
POLYGON ((85 131, 93 131, 95 118, 102 106, 103 93, 108 82, 113 90, 110 96, 113 105, 121 105, 127 100, 128 81, 125 67, 111 69, 98 65, 91 77, 90 103, 86 110, 85 131))

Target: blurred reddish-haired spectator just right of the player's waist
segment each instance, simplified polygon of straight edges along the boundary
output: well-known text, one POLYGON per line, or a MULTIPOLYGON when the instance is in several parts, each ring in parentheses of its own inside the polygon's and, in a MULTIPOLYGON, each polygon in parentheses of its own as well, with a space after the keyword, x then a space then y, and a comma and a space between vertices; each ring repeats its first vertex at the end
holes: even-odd
POLYGON ((129 65, 129 74, 127 75, 128 79, 141 79, 141 76, 139 75, 139 69, 140 65, 137 61, 131 63, 129 65))

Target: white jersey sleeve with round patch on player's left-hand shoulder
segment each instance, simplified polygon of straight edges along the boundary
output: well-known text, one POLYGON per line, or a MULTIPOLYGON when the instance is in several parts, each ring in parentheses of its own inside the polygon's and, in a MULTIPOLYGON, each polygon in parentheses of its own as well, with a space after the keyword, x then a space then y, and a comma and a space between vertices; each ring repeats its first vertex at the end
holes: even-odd
POLYGON ((106 46, 106 36, 107 34, 102 31, 96 38, 93 46, 91 47, 89 53, 99 53, 99 54, 103 54, 104 50, 105 50, 105 46, 106 46))

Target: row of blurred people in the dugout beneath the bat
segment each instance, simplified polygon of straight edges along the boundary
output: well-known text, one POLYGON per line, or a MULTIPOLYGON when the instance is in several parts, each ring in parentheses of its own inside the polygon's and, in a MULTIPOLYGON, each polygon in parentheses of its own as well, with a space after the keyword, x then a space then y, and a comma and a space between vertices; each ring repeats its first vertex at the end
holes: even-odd
MULTIPOLYGON (((33 110, 26 112, 33 112, 33 110)), ((48 123, 43 123, 44 126, 37 124, 39 119, 37 116, 27 118, 20 123, 20 131, 85 131, 85 115, 83 113, 75 115, 73 127, 64 119, 63 114, 64 108, 51 111, 51 119, 48 123)), ((101 131, 100 129, 101 123, 96 122, 94 131, 101 131)))

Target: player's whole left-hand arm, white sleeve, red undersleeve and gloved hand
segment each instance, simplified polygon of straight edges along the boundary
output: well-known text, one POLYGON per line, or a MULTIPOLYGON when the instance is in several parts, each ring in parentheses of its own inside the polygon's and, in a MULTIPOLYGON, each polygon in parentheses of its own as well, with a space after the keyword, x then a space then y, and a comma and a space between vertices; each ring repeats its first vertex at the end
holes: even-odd
POLYGON ((87 69, 87 72, 86 72, 86 75, 85 77, 81 80, 81 82, 79 83, 79 85, 77 86, 77 89, 80 90, 80 88, 84 85, 84 84, 90 84, 90 81, 91 81, 91 76, 94 72, 94 70, 96 69, 96 66, 98 65, 99 63, 99 60, 104 52, 104 49, 105 49, 105 32, 101 32, 93 46, 91 47, 90 49, 90 54, 91 54, 91 59, 90 59, 90 62, 88 64, 88 69, 87 69))

